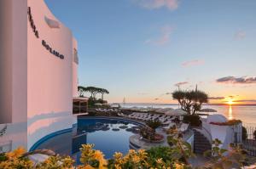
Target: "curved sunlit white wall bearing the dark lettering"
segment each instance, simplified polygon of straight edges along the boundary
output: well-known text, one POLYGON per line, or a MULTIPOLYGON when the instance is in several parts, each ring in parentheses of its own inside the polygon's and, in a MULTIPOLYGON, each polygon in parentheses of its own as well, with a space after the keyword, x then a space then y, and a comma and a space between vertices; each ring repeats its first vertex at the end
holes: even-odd
POLYGON ((28 149, 51 132, 72 127, 73 44, 72 32, 49 11, 43 0, 27 1, 38 37, 27 20, 27 139, 28 149), (51 28, 45 17, 59 23, 51 28), (64 59, 50 54, 44 40, 64 59))

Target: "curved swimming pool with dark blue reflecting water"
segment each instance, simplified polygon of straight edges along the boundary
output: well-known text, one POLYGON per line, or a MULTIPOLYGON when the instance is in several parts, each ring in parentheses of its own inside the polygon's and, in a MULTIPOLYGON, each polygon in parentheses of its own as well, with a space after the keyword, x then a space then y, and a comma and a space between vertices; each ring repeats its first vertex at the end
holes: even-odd
POLYGON ((129 138, 138 132, 143 124, 136 121, 106 117, 80 117, 77 127, 38 144, 36 149, 52 149, 60 155, 70 155, 79 163, 81 144, 95 144, 105 158, 112 158, 114 152, 126 154, 129 138))

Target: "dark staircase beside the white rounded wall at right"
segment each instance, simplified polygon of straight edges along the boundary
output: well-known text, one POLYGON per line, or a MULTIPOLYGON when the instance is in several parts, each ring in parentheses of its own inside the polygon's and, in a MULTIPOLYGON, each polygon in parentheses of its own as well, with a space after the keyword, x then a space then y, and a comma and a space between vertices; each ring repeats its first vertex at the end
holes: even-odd
POLYGON ((201 132, 194 131, 194 153, 195 154, 203 154, 205 151, 212 149, 212 144, 208 141, 208 139, 201 134, 201 132))

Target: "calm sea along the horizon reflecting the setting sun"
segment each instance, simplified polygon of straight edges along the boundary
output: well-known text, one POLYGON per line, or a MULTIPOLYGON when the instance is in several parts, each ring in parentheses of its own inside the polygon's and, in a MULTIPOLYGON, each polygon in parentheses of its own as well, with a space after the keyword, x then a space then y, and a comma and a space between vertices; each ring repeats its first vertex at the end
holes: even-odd
MULTIPOLYGON (((173 108, 178 109, 177 104, 120 104, 122 107, 143 107, 143 108, 173 108)), ((211 114, 224 115, 229 120, 241 120, 244 126, 256 127, 256 105, 211 105, 206 104, 202 106, 202 109, 211 108, 217 110, 211 114)))

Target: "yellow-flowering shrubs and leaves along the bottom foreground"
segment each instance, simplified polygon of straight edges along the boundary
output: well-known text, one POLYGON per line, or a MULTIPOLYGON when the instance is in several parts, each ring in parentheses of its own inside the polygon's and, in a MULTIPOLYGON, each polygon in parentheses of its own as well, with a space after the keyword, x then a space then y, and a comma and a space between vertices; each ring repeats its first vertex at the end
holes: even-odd
MULTIPOLYGON (((83 144, 80 162, 82 165, 74 166, 73 159, 69 156, 50 156, 46 161, 34 164, 25 154, 24 149, 15 149, 9 153, 0 154, 0 168, 19 169, 189 169, 189 157, 193 156, 189 144, 185 144, 181 138, 168 138, 172 147, 154 147, 148 150, 138 151, 131 149, 128 154, 123 155, 116 152, 113 159, 106 160, 101 151, 93 149, 93 144, 83 144)), ((212 151, 207 152, 211 160, 205 165, 197 168, 215 169, 241 168, 244 154, 239 147, 232 146, 231 150, 219 149, 220 141, 213 141, 212 151), (224 155, 227 154, 227 155, 224 155)))

